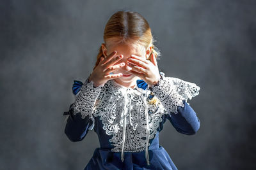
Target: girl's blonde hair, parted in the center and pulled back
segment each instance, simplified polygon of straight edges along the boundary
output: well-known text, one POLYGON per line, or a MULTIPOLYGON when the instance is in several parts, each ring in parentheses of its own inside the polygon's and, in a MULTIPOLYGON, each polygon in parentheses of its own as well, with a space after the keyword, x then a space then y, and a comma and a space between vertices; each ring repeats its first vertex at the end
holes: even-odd
MULTIPOLYGON (((155 40, 147 20, 145 20, 140 13, 134 11, 117 11, 114 13, 105 26, 103 38, 107 48, 111 43, 125 43, 131 45, 132 42, 133 45, 141 45, 145 49, 152 46, 149 56, 151 56, 152 53, 154 53, 156 58, 161 55, 154 45, 155 40), (116 39, 118 40, 116 41, 116 39)), ((100 46, 97 61, 93 69, 98 66, 100 57, 102 56, 103 52, 102 47, 100 46)), ((148 57, 148 60, 151 60, 151 57, 148 57)), ((152 98, 150 101, 154 104, 157 103, 156 97, 152 98)))

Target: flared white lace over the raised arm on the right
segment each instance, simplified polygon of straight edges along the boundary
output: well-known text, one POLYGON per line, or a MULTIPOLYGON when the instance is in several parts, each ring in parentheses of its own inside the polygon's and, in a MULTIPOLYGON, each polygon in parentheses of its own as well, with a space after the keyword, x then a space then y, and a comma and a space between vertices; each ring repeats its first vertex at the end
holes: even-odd
POLYGON ((184 107, 182 100, 187 102, 188 99, 199 94, 200 87, 195 83, 180 80, 179 78, 165 77, 164 74, 162 74, 162 78, 156 86, 152 87, 152 91, 161 101, 164 108, 170 112, 177 114, 177 107, 184 107))

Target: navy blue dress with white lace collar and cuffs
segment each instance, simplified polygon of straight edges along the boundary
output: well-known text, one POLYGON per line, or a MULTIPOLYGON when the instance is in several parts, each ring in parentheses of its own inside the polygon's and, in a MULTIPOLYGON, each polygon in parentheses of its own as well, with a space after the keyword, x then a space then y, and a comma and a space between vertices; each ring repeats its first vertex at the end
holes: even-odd
POLYGON ((134 89, 113 80, 104 87, 94 87, 88 79, 75 81, 76 100, 63 114, 68 115, 65 134, 76 142, 89 130, 97 133, 100 147, 84 169, 177 169, 159 145, 159 132, 166 120, 182 134, 198 131, 200 120, 187 99, 198 95, 199 90, 195 83, 163 73, 155 87, 138 80, 134 89), (154 97, 158 104, 149 104, 154 97))

